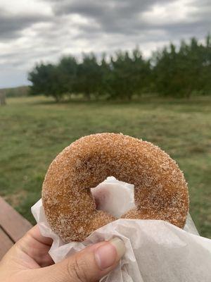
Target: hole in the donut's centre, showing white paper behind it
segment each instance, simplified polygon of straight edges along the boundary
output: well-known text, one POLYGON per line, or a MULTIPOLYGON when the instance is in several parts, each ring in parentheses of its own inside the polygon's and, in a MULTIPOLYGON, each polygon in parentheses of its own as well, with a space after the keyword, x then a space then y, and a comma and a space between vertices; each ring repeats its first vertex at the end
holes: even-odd
POLYGON ((96 209, 107 212, 117 219, 135 207, 134 185, 119 181, 113 176, 106 178, 96 188, 91 188, 91 193, 96 209))

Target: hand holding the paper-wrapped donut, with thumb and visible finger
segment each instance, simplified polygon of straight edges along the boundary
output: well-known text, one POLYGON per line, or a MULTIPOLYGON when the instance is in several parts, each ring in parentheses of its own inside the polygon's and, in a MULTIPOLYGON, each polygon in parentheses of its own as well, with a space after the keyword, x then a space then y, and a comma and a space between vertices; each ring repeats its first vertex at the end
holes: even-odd
POLYGON ((0 281, 4 282, 92 282, 117 266, 124 255, 119 238, 86 247, 54 264, 49 255, 51 238, 34 226, 9 250, 0 262, 0 281))

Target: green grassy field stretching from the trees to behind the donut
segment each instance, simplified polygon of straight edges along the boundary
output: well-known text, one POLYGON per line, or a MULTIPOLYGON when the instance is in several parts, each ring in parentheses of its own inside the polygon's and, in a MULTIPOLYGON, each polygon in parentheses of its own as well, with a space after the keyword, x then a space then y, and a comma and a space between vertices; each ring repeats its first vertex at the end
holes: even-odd
POLYGON ((30 221, 46 169, 70 142, 91 133, 132 135, 165 149, 184 171, 191 216, 211 238, 211 99, 131 103, 8 99, 0 108, 0 195, 30 221))

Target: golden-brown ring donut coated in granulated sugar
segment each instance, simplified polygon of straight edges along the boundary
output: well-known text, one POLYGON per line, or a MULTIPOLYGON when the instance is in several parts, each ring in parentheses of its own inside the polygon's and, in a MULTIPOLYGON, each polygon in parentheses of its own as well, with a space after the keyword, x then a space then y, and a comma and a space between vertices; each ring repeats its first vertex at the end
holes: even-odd
POLYGON ((98 133, 63 149, 44 178, 44 213, 53 232, 64 242, 81 242, 116 220, 96 209, 90 190, 108 176, 134 184, 136 208, 123 214, 123 219, 160 219, 184 227, 188 188, 176 162, 150 142, 98 133))

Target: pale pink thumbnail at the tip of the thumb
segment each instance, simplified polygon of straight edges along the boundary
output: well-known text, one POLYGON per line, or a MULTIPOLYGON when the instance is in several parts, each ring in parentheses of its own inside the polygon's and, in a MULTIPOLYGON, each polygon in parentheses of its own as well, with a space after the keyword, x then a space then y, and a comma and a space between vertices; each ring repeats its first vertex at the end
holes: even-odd
POLYGON ((124 255, 125 247, 120 238, 113 238, 95 250, 96 263, 100 269, 108 269, 124 255))

